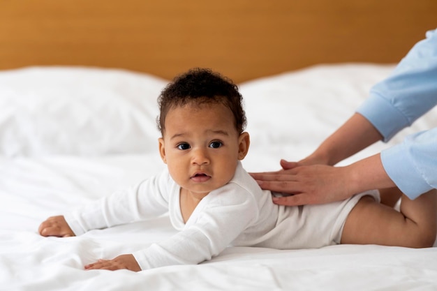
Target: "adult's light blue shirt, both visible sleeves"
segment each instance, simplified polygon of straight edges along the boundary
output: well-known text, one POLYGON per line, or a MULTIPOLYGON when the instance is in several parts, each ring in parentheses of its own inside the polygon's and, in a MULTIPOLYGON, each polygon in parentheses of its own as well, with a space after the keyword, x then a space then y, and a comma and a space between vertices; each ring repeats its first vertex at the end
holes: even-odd
MULTIPOLYGON (((437 29, 427 32, 392 74, 376 84, 357 112, 388 141, 437 105, 437 29)), ((437 128, 381 152, 390 179, 410 199, 437 188, 437 128)))

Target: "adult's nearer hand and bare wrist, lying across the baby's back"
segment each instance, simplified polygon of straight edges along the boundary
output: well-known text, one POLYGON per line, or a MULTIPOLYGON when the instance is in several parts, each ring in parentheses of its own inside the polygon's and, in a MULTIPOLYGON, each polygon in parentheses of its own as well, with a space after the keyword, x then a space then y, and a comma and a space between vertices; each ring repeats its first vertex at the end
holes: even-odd
POLYGON ((363 191, 396 186, 385 172, 380 154, 345 167, 297 165, 288 170, 251 175, 263 189, 294 194, 274 198, 274 203, 290 206, 334 202, 363 191))

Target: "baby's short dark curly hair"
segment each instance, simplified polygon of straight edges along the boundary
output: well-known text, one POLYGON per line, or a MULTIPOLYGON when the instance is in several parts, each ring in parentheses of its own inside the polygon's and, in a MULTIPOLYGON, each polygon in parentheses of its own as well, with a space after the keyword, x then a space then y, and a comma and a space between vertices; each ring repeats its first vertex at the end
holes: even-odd
POLYGON ((158 130, 165 130, 165 117, 172 107, 188 103, 221 103, 228 107, 235 117, 235 128, 239 133, 246 127, 243 98, 232 80, 207 68, 193 68, 175 77, 158 97, 160 114, 156 119, 158 130))

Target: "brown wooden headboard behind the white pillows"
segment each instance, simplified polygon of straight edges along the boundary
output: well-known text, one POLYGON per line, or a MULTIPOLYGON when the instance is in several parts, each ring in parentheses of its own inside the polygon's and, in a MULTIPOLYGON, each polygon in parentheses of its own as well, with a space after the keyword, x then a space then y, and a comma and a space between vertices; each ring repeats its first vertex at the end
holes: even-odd
POLYGON ((436 0, 0 0, 0 69, 171 79, 202 66, 242 82, 320 63, 394 63, 436 27, 436 0))

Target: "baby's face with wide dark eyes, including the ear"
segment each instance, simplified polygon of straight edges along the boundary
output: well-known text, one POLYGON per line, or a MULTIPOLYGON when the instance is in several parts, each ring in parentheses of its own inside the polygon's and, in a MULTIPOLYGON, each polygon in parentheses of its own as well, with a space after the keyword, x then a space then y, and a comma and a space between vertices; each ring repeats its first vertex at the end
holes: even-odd
POLYGON ((172 108, 159 140, 172 178, 198 198, 232 179, 247 147, 249 135, 239 135, 232 112, 221 104, 172 108))

